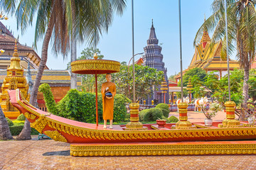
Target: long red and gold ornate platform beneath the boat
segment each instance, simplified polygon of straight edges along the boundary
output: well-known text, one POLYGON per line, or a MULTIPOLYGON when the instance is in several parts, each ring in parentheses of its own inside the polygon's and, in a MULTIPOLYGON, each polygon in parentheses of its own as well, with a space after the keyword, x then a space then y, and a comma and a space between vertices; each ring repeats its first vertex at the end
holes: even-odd
POLYGON ((74 157, 256 154, 256 141, 74 143, 74 157))

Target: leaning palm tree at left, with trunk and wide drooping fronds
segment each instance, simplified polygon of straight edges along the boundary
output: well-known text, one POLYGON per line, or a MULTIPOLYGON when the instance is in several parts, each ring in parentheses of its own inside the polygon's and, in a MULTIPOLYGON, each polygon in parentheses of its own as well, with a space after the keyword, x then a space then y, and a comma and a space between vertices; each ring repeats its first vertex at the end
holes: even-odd
MULTIPOLYGON (((112 22, 112 13, 122 13, 125 7, 125 0, 21 0, 16 8, 16 1, 4 0, 0 8, 7 12, 14 13, 21 33, 24 33, 28 25, 33 22, 36 14, 36 42, 43 38, 41 62, 36 74, 36 80, 31 91, 30 103, 35 106, 38 94, 38 87, 46 67, 48 45, 53 36, 53 50, 60 52, 65 57, 70 47, 70 38, 78 37, 79 40, 86 40, 89 45, 96 45, 99 41, 102 30, 107 30, 112 22)), ((28 120, 21 132, 21 139, 28 137, 28 120)), ((30 135, 29 135, 30 136, 30 135)))

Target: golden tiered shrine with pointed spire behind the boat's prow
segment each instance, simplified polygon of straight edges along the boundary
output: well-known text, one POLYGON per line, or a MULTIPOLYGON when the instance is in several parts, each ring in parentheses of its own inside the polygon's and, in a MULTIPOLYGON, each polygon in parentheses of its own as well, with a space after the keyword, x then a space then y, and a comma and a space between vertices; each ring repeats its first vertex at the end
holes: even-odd
POLYGON ((7 68, 7 76, 1 86, 2 93, 0 94, 1 108, 7 118, 17 118, 21 113, 14 108, 9 102, 8 90, 20 89, 21 94, 27 101, 30 95, 28 94, 28 84, 24 77, 24 70, 21 68, 21 59, 18 57, 17 42, 15 41, 14 55, 11 57, 11 64, 7 68))

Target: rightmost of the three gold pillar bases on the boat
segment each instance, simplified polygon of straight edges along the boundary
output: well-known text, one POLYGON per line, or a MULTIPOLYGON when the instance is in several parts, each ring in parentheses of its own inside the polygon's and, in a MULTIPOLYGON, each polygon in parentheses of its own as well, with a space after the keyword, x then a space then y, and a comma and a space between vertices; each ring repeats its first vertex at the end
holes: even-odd
POLYGON ((223 123, 219 124, 219 128, 235 128, 242 127, 239 120, 235 119, 235 102, 226 101, 225 102, 226 118, 223 123))

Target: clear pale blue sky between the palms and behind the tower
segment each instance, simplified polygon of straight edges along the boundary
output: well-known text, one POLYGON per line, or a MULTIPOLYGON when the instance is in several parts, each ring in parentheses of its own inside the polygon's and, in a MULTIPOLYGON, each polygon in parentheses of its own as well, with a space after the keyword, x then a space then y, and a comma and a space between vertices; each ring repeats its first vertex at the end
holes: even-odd
MULTIPOLYGON (((183 69, 191 62, 194 53, 193 40, 198 28, 206 18, 211 15, 211 0, 181 0, 181 28, 182 28, 182 54, 183 69)), ((144 52, 146 40, 149 39, 151 19, 154 19, 154 28, 159 44, 162 43, 161 53, 167 67, 168 76, 180 71, 180 49, 178 35, 178 0, 134 0, 134 53, 144 52)), ((8 21, 2 21, 5 26, 11 28, 14 36, 19 35, 19 42, 31 46, 34 40, 34 28, 29 27, 26 33, 21 35, 17 30, 16 19, 10 16, 8 21)), ((42 41, 38 42, 37 53, 41 56, 42 41)), ((86 43, 78 44, 78 57, 85 49, 86 43)), ((127 0, 127 8, 123 16, 114 16, 108 33, 103 33, 97 45, 105 60, 129 62, 132 57, 132 2, 127 0)), ((140 56, 137 55, 135 60, 140 56)), ((50 69, 66 69, 70 62, 70 55, 63 60, 62 55, 56 56, 48 49, 47 66, 50 69)))

